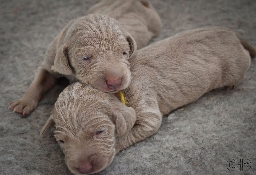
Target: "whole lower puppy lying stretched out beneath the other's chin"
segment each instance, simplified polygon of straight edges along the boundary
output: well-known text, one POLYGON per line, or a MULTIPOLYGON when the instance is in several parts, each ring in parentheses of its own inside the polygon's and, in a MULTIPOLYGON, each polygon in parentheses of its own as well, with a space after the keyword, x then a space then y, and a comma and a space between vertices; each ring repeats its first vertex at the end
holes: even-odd
POLYGON ((162 117, 206 92, 243 80, 256 50, 237 33, 204 27, 140 49, 130 59, 131 83, 122 94, 90 85, 68 86, 41 130, 55 122, 65 162, 77 175, 107 167, 115 154, 160 127, 162 117))

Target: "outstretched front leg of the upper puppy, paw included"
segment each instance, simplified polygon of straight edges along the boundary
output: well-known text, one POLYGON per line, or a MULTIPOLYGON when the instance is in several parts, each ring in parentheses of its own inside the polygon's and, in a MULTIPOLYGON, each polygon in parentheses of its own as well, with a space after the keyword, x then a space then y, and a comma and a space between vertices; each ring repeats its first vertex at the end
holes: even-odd
POLYGON ((28 91, 21 99, 10 102, 9 108, 16 113, 21 113, 23 115, 29 114, 37 107, 44 92, 53 87, 55 83, 56 78, 43 67, 39 67, 37 76, 32 81, 28 91))

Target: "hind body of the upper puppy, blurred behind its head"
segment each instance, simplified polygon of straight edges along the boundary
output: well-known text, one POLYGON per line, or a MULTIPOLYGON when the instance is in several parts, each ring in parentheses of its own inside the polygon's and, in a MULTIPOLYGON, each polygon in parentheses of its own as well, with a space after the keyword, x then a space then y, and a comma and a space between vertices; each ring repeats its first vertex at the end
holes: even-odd
POLYGON ((116 19, 133 36, 138 49, 145 47, 162 29, 159 15, 147 0, 102 0, 87 13, 116 19))

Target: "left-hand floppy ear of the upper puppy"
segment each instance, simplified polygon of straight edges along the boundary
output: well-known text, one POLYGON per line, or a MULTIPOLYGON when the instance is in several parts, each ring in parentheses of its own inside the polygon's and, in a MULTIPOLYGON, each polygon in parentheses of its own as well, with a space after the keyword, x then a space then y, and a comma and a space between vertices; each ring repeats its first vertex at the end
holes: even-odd
POLYGON ((65 45, 58 48, 54 59, 54 70, 63 75, 72 75, 68 61, 68 48, 65 45))

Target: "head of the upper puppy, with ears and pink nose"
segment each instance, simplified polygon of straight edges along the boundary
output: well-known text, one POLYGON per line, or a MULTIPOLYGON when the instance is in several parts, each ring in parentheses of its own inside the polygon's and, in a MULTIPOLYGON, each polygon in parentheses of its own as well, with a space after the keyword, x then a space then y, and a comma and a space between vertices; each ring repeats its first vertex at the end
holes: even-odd
POLYGON ((117 92, 130 84, 129 57, 136 43, 117 21, 100 14, 76 20, 57 51, 54 67, 102 92, 117 92))

